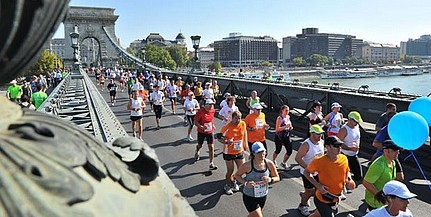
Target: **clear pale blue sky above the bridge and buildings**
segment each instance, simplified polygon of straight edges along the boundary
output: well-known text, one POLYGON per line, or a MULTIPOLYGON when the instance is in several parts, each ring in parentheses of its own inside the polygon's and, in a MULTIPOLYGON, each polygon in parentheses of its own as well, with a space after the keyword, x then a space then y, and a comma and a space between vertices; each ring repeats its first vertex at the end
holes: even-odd
MULTIPOLYGON (((281 42, 303 28, 318 28, 398 46, 431 34, 429 0, 71 0, 70 5, 114 8, 124 48, 150 33, 174 40, 181 32, 189 50, 192 35, 202 37, 202 47, 232 32, 281 42)), ((54 37, 64 38, 63 25, 54 37)))

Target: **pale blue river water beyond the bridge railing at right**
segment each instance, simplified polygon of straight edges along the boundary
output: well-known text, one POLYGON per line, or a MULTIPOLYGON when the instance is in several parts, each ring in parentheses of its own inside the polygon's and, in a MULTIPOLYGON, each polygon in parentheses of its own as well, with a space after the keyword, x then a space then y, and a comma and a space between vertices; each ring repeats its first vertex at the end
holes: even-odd
POLYGON ((401 93, 417 94, 427 96, 431 93, 431 74, 414 76, 389 76, 371 78, 348 78, 348 79, 321 79, 320 77, 299 77, 299 82, 309 83, 317 81, 318 84, 339 83, 340 86, 359 88, 368 85, 369 90, 389 92, 392 88, 401 89, 401 93))

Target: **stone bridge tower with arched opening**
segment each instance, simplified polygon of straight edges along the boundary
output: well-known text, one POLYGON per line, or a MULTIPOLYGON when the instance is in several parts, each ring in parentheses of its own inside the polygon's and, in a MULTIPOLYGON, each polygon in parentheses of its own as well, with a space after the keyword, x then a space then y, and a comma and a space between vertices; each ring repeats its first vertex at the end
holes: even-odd
POLYGON ((115 35, 115 21, 119 15, 113 8, 76 7, 70 6, 64 24, 65 48, 64 64, 73 63, 73 49, 69 34, 74 26, 78 26, 81 63, 94 66, 113 67, 118 63, 119 52, 115 46, 120 46, 115 35), (106 30, 106 33, 104 29, 106 30), (116 41, 114 45, 108 35, 116 41))

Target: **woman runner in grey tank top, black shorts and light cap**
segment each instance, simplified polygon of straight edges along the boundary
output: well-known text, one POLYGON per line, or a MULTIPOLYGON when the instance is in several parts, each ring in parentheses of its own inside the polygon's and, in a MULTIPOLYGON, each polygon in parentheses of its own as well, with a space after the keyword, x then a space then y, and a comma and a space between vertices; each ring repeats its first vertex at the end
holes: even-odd
POLYGON ((266 159, 267 153, 262 143, 254 143, 250 153, 251 159, 241 165, 235 179, 244 184, 242 201, 248 216, 263 216, 269 184, 279 182, 280 177, 274 163, 266 159))

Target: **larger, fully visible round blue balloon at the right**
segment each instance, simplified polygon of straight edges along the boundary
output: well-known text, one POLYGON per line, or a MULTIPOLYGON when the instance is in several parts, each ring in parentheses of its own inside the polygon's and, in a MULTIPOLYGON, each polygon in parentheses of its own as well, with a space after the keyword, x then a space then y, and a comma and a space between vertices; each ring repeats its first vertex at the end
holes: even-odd
POLYGON ((428 139, 426 120, 412 111, 403 111, 391 118, 388 133, 392 141, 401 148, 416 150, 428 139))

